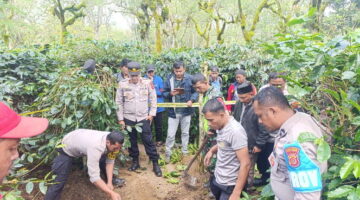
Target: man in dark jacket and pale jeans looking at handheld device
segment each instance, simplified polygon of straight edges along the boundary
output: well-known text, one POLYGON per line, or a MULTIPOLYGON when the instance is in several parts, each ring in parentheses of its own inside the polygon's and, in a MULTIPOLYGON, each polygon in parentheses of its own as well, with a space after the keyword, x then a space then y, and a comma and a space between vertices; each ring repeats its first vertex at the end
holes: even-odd
POLYGON ((175 62, 173 70, 174 73, 168 77, 164 84, 163 96, 167 101, 186 103, 188 107, 168 109, 168 134, 165 143, 166 161, 170 160, 171 149, 175 143, 175 135, 179 124, 181 126, 181 150, 184 154, 187 154, 191 115, 194 112, 191 106, 198 98, 198 94, 191 83, 191 75, 185 73, 186 68, 184 63, 175 62))

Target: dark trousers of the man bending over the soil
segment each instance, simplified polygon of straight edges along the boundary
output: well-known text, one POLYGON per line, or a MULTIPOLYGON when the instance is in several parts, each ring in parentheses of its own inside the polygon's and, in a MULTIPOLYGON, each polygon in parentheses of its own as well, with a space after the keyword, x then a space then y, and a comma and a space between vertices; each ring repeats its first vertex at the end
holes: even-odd
MULTIPOLYGON (((71 172, 73 157, 67 155, 62 149, 58 149, 59 155, 54 159, 51 166, 52 172, 56 175, 53 185, 48 188, 45 200, 59 200, 67 178, 71 172)), ((100 170, 106 177, 106 156, 103 155, 99 161, 100 170)))

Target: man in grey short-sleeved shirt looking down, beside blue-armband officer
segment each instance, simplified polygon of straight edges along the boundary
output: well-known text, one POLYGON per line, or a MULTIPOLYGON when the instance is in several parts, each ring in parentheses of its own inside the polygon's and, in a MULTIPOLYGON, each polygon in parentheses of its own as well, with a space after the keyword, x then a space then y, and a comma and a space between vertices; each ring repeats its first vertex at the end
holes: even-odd
POLYGON ((211 129, 217 131, 217 144, 204 158, 206 166, 216 153, 215 179, 210 188, 216 200, 238 200, 250 169, 244 128, 226 111, 221 98, 209 100, 202 110, 211 129))

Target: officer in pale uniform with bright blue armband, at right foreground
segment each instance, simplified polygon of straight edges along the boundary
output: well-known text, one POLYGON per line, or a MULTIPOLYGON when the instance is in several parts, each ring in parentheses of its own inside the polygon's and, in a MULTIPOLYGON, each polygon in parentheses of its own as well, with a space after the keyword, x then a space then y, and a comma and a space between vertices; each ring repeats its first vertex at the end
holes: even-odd
POLYGON ((301 133, 323 136, 321 125, 310 115, 294 112, 284 94, 271 86, 254 98, 254 111, 268 131, 279 130, 269 157, 270 184, 277 199, 316 200, 321 198, 321 174, 327 163, 316 159, 313 142, 297 142, 301 133))

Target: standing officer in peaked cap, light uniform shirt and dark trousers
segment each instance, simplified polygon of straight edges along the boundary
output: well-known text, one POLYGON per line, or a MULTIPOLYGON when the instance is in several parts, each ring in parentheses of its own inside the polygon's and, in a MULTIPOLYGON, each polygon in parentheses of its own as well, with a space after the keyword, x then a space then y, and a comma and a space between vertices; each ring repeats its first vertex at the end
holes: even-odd
MULTIPOLYGON (((159 154, 156 151, 151 134, 151 121, 156 115, 156 92, 152 81, 140 77, 140 64, 129 62, 130 78, 120 81, 116 91, 116 104, 119 106, 117 116, 119 124, 124 128, 141 123, 141 139, 145 146, 146 154, 153 162, 153 171, 156 176, 162 176, 158 164, 159 154)), ((129 148, 132 157, 132 165, 129 171, 140 168, 139 148, 137 145, 137 131, 135 128, 129 133, 131 146, 129 148)))

